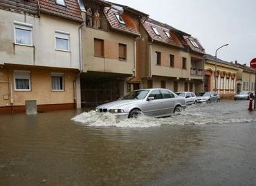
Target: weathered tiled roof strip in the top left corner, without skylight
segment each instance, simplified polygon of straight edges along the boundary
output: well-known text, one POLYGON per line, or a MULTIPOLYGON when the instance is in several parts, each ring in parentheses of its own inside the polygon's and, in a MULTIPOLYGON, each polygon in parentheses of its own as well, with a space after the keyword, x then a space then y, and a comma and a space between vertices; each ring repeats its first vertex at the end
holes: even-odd
POLYGON ((1 0, 1 8, 10 8, 12 10, 19 10, 21 12, 28 12, 30 14, 38 14, 37 0, 1 0))

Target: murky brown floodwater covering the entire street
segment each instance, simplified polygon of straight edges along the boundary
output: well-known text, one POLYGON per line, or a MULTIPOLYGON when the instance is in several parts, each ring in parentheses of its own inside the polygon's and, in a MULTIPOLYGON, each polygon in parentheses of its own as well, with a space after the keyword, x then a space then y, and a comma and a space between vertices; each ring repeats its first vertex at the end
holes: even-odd
POLYGON ((85 111, 0 115, 0 185, 256 185, 248 101, 122 121, 85 111))

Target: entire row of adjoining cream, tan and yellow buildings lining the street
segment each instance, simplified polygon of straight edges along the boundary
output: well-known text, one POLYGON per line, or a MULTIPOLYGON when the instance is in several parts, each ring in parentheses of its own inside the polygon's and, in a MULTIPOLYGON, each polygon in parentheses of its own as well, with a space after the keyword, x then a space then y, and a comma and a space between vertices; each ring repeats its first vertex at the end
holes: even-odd
POLYGON ((65 110, 131 90, 255 90, 255 70, 205 54, 198 39, 103 0, 0 1, 0 113, 65 110), (91 9, 91 12, 86 10, 91 9))

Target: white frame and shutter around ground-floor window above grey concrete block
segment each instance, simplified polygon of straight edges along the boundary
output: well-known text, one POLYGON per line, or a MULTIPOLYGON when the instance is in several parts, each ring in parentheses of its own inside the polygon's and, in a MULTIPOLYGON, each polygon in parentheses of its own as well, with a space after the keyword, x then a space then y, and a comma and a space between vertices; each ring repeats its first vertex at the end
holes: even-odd
POLYGON ((13 70, 13 80, 15 91, 31 91, 31 72, 28 70, 13 70), (19 74, 17 74, 19 73, 19 74), (17 79, 28 79, 28 89, 18 89, 17 79))

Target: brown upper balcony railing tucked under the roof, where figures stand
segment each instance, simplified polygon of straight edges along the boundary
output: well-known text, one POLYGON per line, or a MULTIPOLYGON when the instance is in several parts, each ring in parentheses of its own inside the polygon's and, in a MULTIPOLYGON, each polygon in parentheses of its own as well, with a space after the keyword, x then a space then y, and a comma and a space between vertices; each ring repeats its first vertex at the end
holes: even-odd
POLYGON ((107 19, 105 18, 97 19, 89 15, 86 15, 86 27, 109 31, 109 23, 107 22, 107 19))

